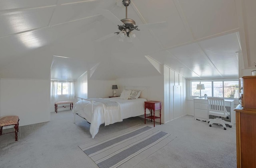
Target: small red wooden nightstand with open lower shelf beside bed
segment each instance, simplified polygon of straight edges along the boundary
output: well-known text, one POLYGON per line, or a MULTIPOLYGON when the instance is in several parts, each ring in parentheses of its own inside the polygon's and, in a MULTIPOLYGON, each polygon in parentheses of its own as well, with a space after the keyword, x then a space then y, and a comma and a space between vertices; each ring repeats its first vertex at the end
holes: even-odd
POLYGON ((155 119, 160 119, 160 125, 161 125, 161 107, 162 107, 162 103, 161 102, 157 102, 157 101, 147 101, 144 102, 144 107, 145 107, 145 113, 144 113, 144 117, 145 117, 145 124, 146 124, 146 118, 152 119, 154 120, 154 127, 155 127, 155 119), (146 109, 150 109, 150 116, 146 116, 146 109), (159 109, 159 117, 155 116, 155 110, 159 109), (152 115, 152 110, 154 111, 153 115, 152 115))

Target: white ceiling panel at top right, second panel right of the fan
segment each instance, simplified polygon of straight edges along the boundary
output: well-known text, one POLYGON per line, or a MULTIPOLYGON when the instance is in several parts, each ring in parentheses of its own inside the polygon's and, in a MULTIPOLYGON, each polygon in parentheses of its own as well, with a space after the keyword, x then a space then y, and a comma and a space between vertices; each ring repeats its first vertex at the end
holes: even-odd
POLYGON ((239 27, 234 0, 179 0, 178 2, 195 39, 239 27))

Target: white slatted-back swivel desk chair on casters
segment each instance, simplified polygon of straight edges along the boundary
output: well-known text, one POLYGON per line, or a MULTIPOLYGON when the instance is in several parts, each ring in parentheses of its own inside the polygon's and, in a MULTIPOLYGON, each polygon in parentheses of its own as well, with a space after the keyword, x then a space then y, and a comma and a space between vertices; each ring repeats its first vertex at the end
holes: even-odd
POLYGON ((209 115, 216 116, 214 119, 208 119, 210 127, 212 127, 212 124, 220 124, 226 130, 226 124, 230 128, 233 126, 231 122, 221 119, 221 117, 228 119, 228 115, 230 115, 230 112, 226 110, 224 98, 208 98, 208 111, 209 115))

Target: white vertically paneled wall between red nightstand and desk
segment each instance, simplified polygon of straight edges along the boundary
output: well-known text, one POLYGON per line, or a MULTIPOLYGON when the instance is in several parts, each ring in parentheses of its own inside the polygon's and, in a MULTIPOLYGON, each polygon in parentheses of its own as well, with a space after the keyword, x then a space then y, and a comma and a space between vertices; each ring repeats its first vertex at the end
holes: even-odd
POLYGON ((186 78, 164 65, 165 122, 186 115, 186 78))

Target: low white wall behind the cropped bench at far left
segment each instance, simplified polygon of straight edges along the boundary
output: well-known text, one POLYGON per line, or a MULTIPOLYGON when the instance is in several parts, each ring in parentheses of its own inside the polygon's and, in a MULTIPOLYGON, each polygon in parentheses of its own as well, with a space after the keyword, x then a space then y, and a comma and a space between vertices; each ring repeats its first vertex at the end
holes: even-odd
POLYGON ((18 115, 20 126, 50 121, 50 80, 0 79, 4 115, 18 115))

